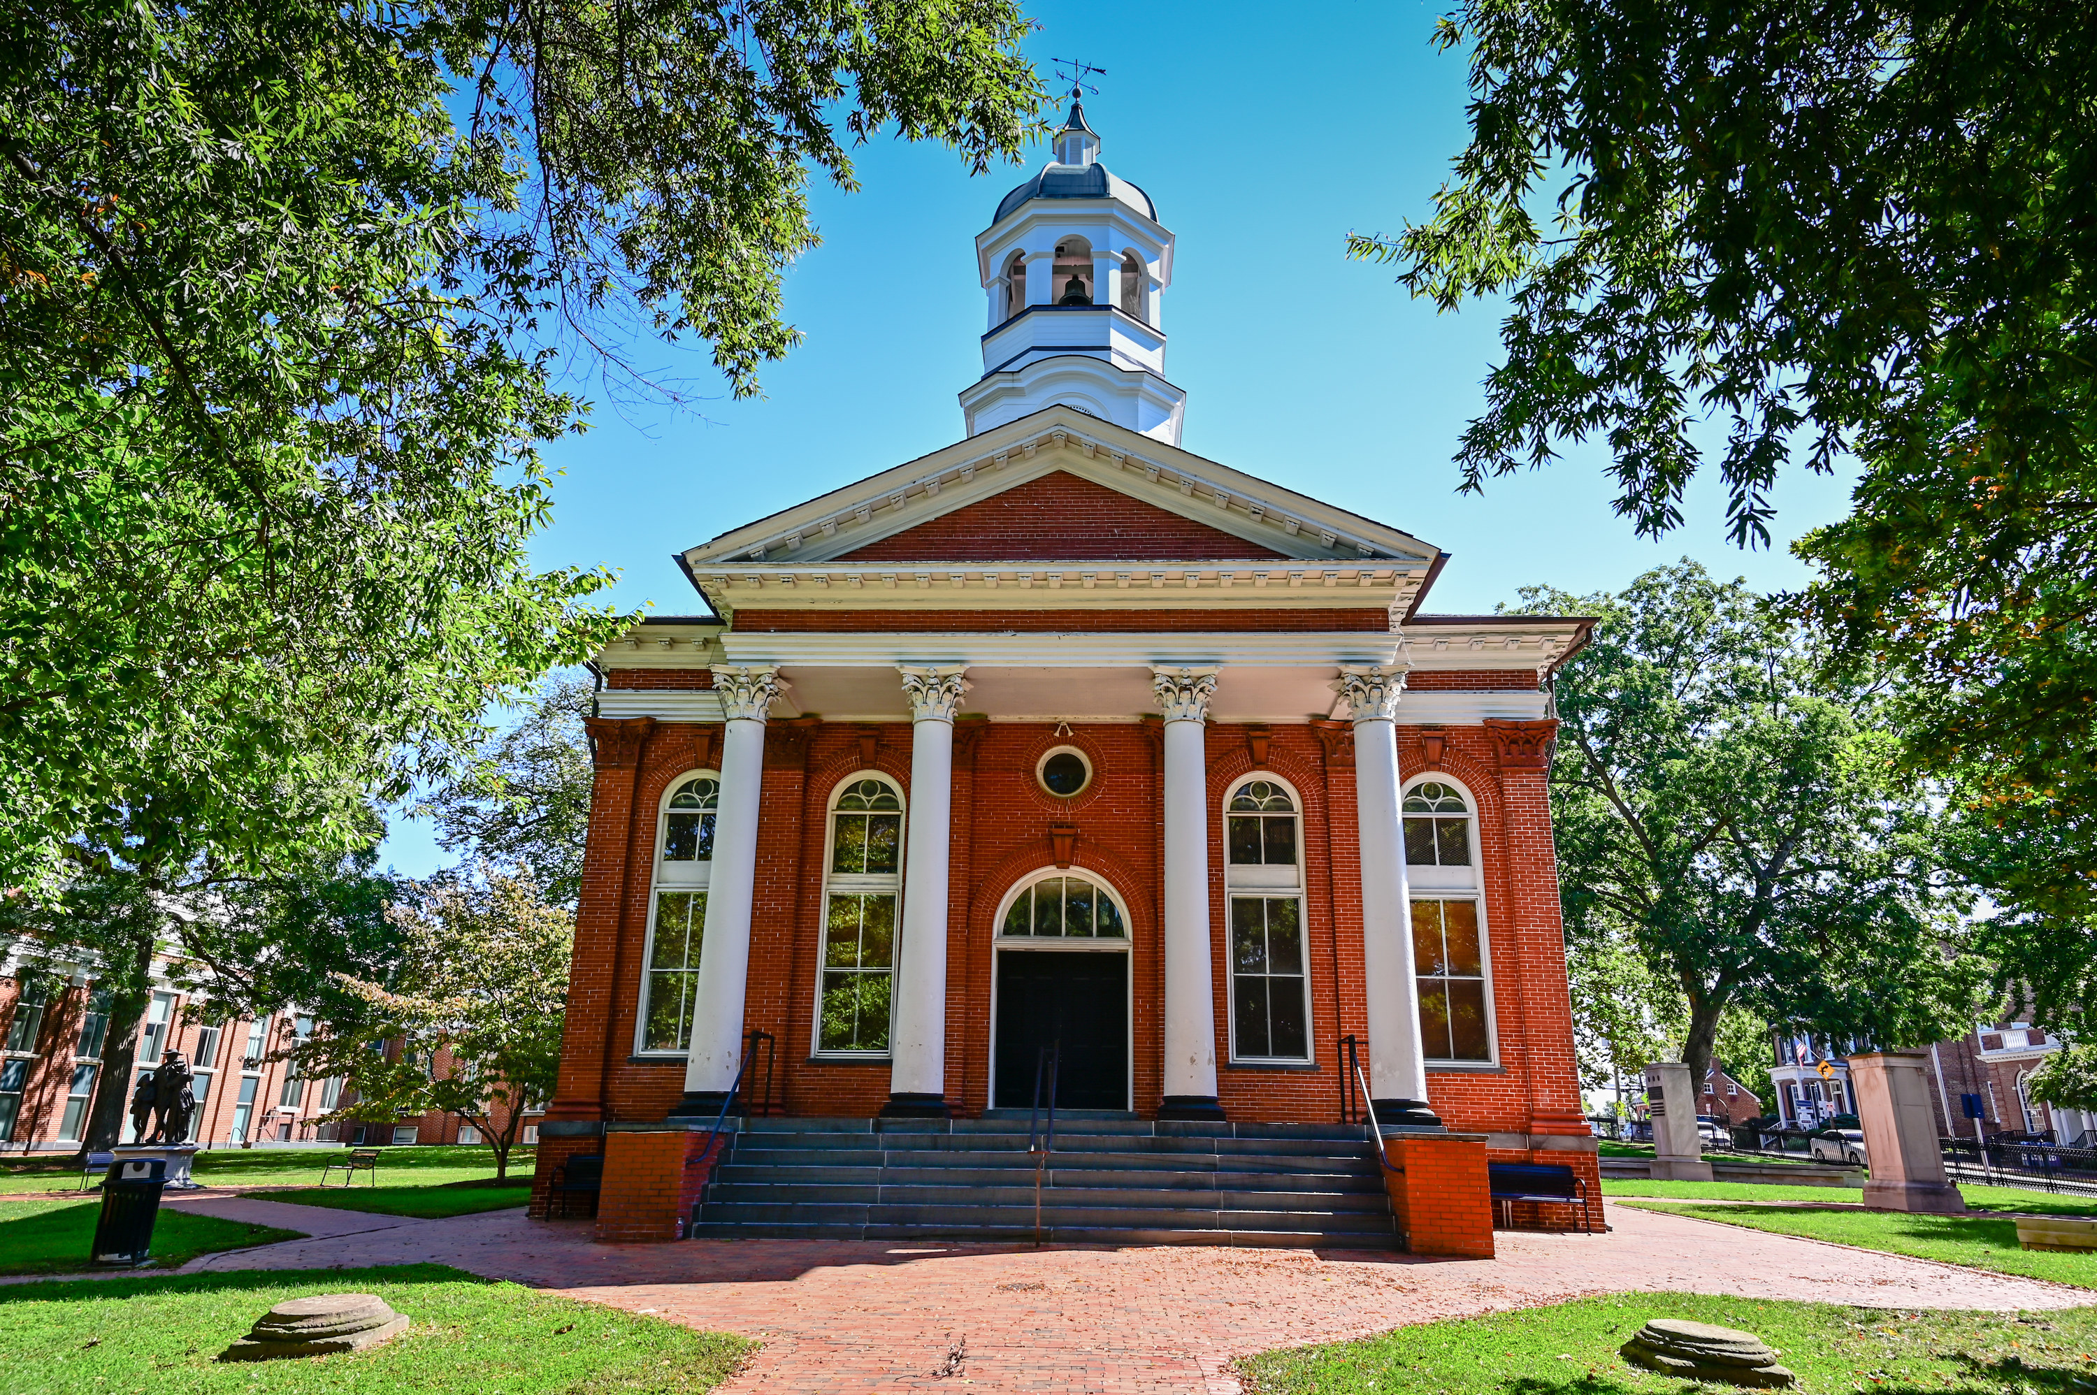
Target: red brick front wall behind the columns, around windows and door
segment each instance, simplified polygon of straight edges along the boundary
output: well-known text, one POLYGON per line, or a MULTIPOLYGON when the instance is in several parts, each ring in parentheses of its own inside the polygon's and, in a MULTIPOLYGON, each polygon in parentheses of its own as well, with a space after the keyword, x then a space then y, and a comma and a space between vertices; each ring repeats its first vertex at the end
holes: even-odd
MULTIPOLYGON (((633 1015, 642 986, 656 808, 669 782, 711 764, 719 728, 652 726, 637 768, 598 772, 577 923, 575 980, 560 1097, 549 1118, 663 1118, 684 1087, 679 1061, 635 1061, 633 1015), (631 875, 629 875, 631 868, 631 875)), ((768 732, 757 910, 744 1028, 778 1040, 780 1093, 788 1114, 864 1116, 889 1093, 887 1061, 812 1061, 818 940, 822 925, 824 810, 845 776, 864 770, 860 724, 774 722, 768 732)), ((910 728, 874 728, 872 768, 910 785, 910 728)), ((1451 1126, 1478 1133, 1585 1135, 1573 1070, 1571 1005, 1558 923, 1556 866, 1541 770, 1501 770, 1485 728, 1443 728, 1439 770, 1464 780, 1478 806, 1485 852, 1485 915, 1491 946, 1499 1061, 1489 1070, 1430 1072, 1430 1101, 1451 1126)), ((1267 732, 1254 766, 1248 728, 1212 726, 1210 923, 1216 963, 1218 1093, 1246 1120, 1329 1120, 1340 1112, 1336 1040, 1365 1032, 1361 982, 1359 856, 1353 755, 1344 726, 1300 724, 1267 732), (1334 741, 1327 757, 1323 741, 1334 741), (1315 1068, 1229 1066, 1220 803, 1254 770, 1290 780, 1304 806, 1306 927, 1311 948, 1315 1068)), ((606 757, 600 736, 600 761, 606 757)), ((954 776, 954 852, 948 944, 948 1099, 965 1112, 990 1097, 992 917, 1015 879, 1053 862, 1048 824, 1078 827, 1076 866, 1120 892, 1130 923, 1134 984, 1134 1108, 1158 1108, 1162 1053, 1162 957, 1158 877, 1162 858, 1160 749, 1139 724, 965 728, 954 776), (1072 743, 1097 778, 1074 801, 1034 782, 1036 759, 1072 743), (969 747, 973 745, 973 757, 969 747)), ((1424 774, 1420 734, 1401 728, 1407 778, 1424 774)), ((1537 1154, 1592 1168, 1592 1154, 1537 1154)), ((545 1162, 541 1162, 545 1166, 545 1162)), ((1598 1179, 1594 1179, 1598 1181, 1598 1179)))

